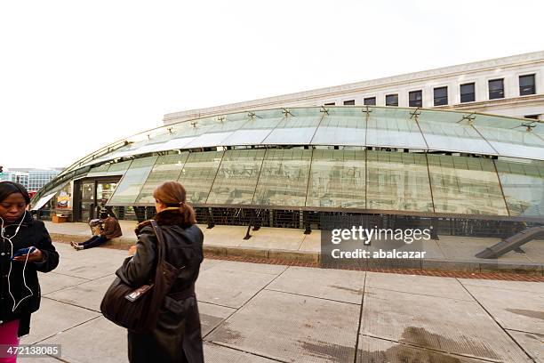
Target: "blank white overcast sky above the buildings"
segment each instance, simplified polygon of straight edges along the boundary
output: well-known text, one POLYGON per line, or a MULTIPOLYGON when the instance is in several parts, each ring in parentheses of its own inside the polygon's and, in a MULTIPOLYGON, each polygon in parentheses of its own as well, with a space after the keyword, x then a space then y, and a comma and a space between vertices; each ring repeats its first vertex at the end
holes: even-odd
POLYGON ((0 165, 68 166, 165 113, 544 49, 540 1, 3 1, 0 165))

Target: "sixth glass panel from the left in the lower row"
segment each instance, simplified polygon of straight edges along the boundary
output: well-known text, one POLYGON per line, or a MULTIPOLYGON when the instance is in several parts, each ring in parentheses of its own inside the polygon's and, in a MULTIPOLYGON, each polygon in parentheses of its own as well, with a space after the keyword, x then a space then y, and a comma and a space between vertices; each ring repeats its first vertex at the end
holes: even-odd
POLYGON ((364 150, 315 149, 306 206, 364 209, 364 150))

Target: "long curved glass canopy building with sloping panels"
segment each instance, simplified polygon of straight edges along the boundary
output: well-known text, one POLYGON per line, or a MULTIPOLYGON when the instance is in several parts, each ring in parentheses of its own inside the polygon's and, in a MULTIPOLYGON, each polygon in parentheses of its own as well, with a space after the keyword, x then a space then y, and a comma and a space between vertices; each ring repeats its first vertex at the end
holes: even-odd
POLYGON ((154 212, 152 191, 169 180, 211 225, 309 230, 320 215, 347 214, 494 230, 490 223, 544 221, 544 123, 366 106, 199 118, 77 160, 33 209, 57 210, 62 196, 74 221, 99 207, 143 219, 154 212))

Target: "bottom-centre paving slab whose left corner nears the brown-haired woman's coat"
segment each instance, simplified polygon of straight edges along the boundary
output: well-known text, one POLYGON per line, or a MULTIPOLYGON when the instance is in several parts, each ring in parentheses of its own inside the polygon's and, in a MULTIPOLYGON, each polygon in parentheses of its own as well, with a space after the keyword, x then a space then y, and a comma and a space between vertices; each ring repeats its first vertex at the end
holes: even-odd
POLYGON ((350 303, 265 290, 205 340, 289 362, 348 362, 359 312, 350 303))

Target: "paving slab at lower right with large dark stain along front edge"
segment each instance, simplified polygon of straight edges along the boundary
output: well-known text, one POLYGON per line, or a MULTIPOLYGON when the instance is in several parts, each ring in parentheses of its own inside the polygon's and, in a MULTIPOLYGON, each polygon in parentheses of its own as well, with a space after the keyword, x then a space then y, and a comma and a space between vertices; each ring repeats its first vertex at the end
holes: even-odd
POLYGON ((530 361, 476 302, 365 288, 361 335, 477 359, 530 361))

